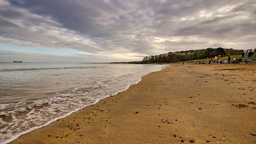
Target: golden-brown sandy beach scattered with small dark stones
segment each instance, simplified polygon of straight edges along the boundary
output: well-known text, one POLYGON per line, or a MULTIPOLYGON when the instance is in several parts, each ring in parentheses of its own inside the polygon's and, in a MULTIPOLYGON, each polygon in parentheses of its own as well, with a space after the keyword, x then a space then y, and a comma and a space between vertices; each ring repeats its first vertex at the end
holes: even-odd
POLYGON ((171 65, 12 143, 256 143, 255 72, 171 65))

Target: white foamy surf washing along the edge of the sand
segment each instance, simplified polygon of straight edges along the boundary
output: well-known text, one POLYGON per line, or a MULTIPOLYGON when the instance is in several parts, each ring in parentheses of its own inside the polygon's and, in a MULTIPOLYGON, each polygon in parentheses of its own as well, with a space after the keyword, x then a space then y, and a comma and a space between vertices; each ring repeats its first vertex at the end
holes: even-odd
MULTIPOLYGON (((20 135, 49 125, 60 118, 67 117, 79 109, 109 97, 109 95, 125 91, 130 85, 139 83, 143 75, 161 70, 166 66, 158 65, 158 67, 149 68, 140 73, 101 79, 95 84, 53 93, 44 99, 11 103, 10 106, 15 107, 14 110, 0 113, 1 115, 12 116, 12 121, 9 123, 0 118, 0 126, 8 124, 5 129, 0 131, 0 142, 9 143, 20 137, 20 135), (30 125, 31 123, 33 123, 33 126, 30 125)), ((2 107, 6 108, 8 106, 4 105, 2 107)))

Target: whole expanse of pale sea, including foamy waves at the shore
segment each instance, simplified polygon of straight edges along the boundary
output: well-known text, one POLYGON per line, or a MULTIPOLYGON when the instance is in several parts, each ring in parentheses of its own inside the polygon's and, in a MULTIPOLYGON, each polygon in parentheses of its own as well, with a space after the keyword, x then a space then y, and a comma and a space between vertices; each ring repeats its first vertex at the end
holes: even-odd
POLYGON ((0 143, 124 91, 166 66, 0 63, 0 143))

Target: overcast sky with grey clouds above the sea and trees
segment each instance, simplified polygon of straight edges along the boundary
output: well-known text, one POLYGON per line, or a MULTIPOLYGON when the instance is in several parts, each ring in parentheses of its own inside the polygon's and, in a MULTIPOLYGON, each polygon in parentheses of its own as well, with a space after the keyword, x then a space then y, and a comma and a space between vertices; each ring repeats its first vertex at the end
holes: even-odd
POLYGON ((0 0, 0 62, 140 61, 256 47, 255 0, 0 0))

